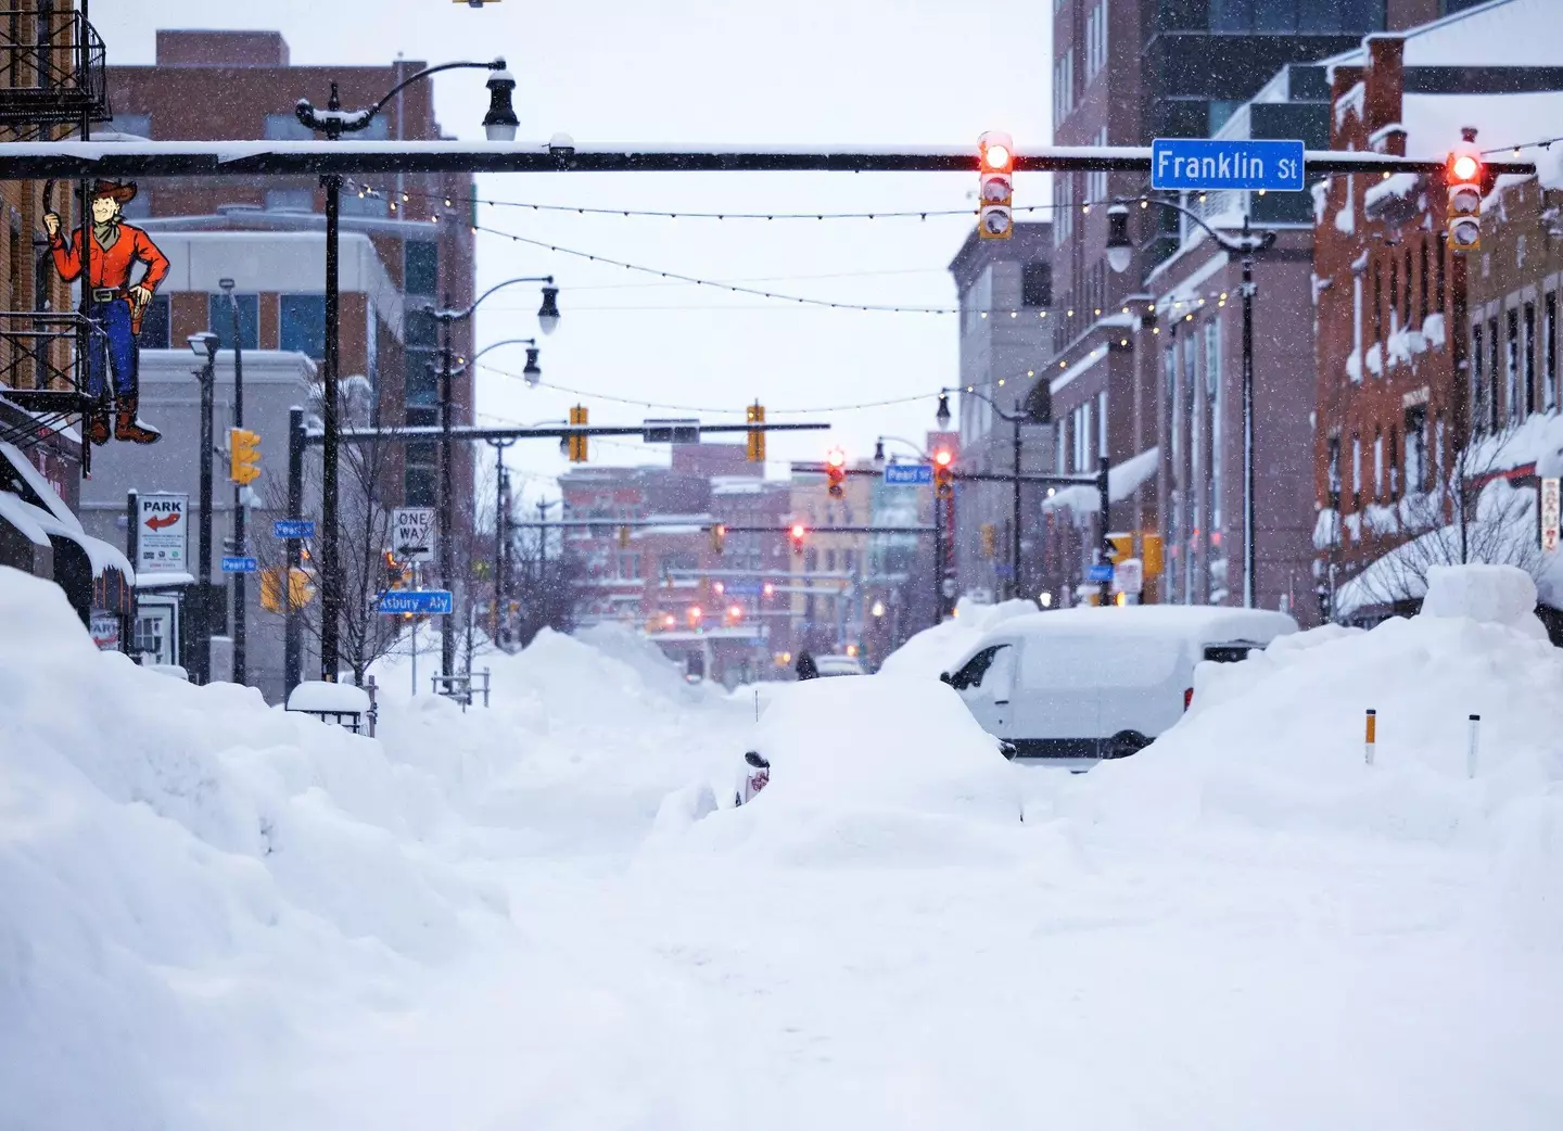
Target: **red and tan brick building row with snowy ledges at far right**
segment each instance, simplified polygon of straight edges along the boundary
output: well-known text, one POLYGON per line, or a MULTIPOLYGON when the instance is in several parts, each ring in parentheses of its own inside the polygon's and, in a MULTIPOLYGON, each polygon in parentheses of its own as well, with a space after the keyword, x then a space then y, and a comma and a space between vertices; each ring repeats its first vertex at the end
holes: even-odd
MULTIPOLYGON (((1557 6, 1507 0, 1371 37, 1361 59, 1333 67, 1332 145, 1438 159, 1465 128, 1488 148, 1547 137, 1563 83, 1543 44, 1558 33, 1557 6)), ((1419 600, 1425 566, 1455 545, 1457 503, 1472 505, 1474 519, 1472 492, 1488 481, 1530 491, 1533 505, 1535 445, 1510 439, 1544 434, 1533 414, 1557 406, 1560 262, 1549 209, 1558 198, 1555 181, 1504 180, 1483 205, 1483 247, 1471 256, 1444 247, 1438 177, 1335 177, 1314 187, 1313 541, 1319 601, 1338 619, 1419 600)), ((1533 534, 1533 511, 1522 522, 1533 534)), ((1474 545, 1475 523, 1460 525, 1465 553, 1494 559, 1496 544, 1474 545)))

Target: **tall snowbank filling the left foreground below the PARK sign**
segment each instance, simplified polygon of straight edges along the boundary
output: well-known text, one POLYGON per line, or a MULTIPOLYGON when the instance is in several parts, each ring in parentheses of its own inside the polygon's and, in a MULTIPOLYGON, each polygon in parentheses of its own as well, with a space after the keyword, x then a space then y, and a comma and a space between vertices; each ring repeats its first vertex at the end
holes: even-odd
POLYGON ((508 920, 378 742, 102 653, 17 570, 0 623, 0 1125, 214 1126, 233 1076, 288 1079, 305 1004, 508 920))

